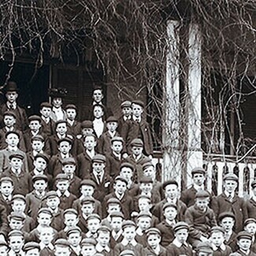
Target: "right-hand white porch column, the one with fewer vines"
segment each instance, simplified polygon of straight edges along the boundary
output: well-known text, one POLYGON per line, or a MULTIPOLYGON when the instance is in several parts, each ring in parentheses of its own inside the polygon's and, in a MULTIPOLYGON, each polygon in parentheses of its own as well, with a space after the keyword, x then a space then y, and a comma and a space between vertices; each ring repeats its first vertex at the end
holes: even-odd
POLYGON ((191 169, 202 167, 201 150, 201 32, 198 24, 190 24, 188 41, 188 95, 187 95, 187 185, 191 169))

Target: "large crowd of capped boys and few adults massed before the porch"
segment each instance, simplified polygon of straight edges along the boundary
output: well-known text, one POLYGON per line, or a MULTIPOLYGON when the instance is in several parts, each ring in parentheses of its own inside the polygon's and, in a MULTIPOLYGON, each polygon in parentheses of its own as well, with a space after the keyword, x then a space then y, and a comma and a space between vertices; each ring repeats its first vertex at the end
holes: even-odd
POLYGON ((256 181, 250 200, 233 173, 211 195, 200 167, 182 192, 161 184, 143 102, 122 102, 117 118, 96 87, 79 122, 50 96, 27 118, 9 82, 0 106, 0 255, 256 255, 256 181))

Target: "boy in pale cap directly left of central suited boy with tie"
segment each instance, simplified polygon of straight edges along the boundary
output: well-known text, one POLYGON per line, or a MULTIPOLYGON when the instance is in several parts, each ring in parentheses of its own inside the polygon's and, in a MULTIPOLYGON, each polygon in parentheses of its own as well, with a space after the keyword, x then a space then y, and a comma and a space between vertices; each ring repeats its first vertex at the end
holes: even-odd
POLYGON ((64 158, 61 161, 62 172, 69 178, 69 191, 78 197, 81 179, 75 175, 76 160, 74 158, 64 158))

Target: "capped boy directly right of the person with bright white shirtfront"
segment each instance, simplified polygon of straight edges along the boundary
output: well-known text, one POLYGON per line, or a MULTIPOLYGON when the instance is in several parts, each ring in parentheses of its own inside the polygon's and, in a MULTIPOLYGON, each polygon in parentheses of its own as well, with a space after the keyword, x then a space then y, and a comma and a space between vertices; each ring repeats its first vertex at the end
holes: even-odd
POLYGON ((111 152, 111 139, 113 137, 120 137, 117 132, 118 121, 116 117, 109 117, 106 120, 107 131, 104 132, 98 139, 98 152, 100 154, 110 154, 111 152))

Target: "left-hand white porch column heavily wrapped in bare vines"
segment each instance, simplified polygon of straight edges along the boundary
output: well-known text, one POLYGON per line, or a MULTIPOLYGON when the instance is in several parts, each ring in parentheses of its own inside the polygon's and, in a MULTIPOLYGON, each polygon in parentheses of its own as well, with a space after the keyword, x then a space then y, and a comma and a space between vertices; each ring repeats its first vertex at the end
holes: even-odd
POLYGON ((167 22, 166 83, 163 95, 163 180, 175 178, 180 184, 179 128, 180 128, 180 81, 179 81, 179 22, 167 22))

